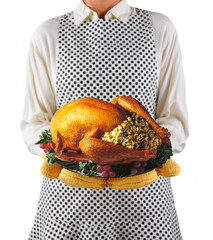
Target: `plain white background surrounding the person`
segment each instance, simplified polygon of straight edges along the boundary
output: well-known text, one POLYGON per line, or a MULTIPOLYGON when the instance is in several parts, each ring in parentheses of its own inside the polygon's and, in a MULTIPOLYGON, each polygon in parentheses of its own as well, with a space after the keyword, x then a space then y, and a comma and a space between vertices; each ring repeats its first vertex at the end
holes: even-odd
MULTIPOLYGON (((186 78, 190 137, 173 156, 181 174, 172 178, 184 240, 210 240, 213 183, 213 32, 210 1, 127 0, 129 5, 161 12, 176 26, 186 78)), ((1 180, 0 238, 27 239, 41 187, 42 159, 28 152, 21 120, 29 41, 43 21, 73 10, 79 0, 4 1, 0 14, 1 180)))

